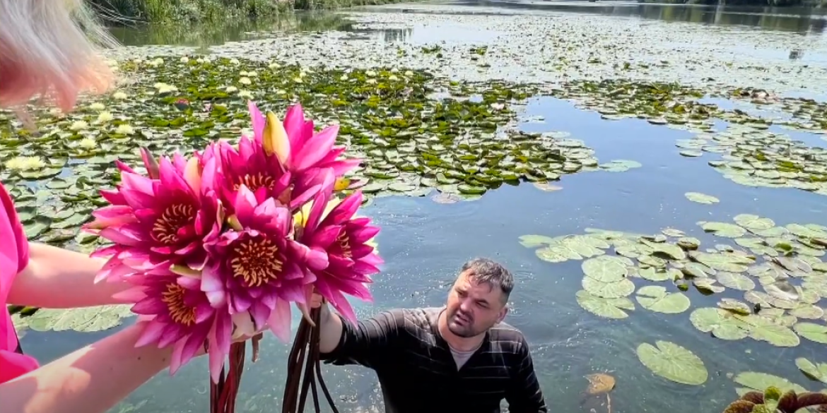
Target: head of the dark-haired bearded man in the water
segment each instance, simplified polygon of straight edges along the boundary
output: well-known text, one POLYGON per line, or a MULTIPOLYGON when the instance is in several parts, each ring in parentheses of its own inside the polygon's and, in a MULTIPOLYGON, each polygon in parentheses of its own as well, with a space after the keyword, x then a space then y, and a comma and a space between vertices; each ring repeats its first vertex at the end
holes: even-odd
POLYGON ((485 333, 505 318, 513 288, 514 277, 505 267, 490 259, 471 259, 448 294, 448 330, 465 338, 485 333))

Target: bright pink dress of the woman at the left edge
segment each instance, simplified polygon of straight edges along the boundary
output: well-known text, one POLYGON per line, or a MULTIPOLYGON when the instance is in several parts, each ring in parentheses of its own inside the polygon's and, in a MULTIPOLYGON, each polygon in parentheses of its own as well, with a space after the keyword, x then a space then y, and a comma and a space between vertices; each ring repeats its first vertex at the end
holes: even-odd
POLYGON ((17 334, 6 307, 12 282, 29 262, 29 244, 12 197, 0 183, 0 383, 37 368, 37 360, 17 353, 17 334))

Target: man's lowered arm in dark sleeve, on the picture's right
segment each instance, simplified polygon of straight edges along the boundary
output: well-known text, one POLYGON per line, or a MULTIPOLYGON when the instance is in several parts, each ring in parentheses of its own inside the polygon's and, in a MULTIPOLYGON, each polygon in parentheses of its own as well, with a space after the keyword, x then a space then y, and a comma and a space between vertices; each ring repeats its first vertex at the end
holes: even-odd
POLYGON ((525 339, 520 340, 520 349, 516 356, 517 364, 512 367, 514 376, 511 377, 509 390, 505 393, 505 401, 509 402, 509 413, 547 413, 546 401, 543 399, 537 375, 534 374, 534 363, 525 339))

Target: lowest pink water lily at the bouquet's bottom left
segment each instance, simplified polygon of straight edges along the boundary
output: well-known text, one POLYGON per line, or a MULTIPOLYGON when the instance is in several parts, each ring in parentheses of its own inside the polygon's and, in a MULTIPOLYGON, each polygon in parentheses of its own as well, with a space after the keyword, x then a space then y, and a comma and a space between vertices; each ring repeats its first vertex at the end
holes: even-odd
POLYGON ((226 309, 210 305, 200 279, 164 273, 136 275, 129 281, 136 287, 119 297, 136 301, 132 312, 144 319, 136 347, 173 346, 171 374, 203 350, 208 340, 210 358, 220 357, 223 362, 229 352, 232 320, 226 309))

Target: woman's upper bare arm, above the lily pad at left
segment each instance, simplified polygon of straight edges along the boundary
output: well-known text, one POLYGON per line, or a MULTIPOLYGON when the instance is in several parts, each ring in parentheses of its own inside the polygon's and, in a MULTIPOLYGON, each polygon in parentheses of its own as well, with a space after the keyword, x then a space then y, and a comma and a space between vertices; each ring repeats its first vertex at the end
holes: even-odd
POLYGON ((112 294, 122 292, 129 285, 127 282, 94 283, 103 263, 106 260, 31 242, 29 263, 17 274, 7 301, 45 308, 117 304, 120 301, 112 298, 112 294))

